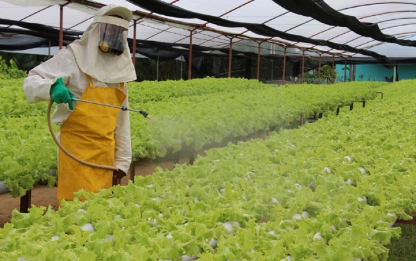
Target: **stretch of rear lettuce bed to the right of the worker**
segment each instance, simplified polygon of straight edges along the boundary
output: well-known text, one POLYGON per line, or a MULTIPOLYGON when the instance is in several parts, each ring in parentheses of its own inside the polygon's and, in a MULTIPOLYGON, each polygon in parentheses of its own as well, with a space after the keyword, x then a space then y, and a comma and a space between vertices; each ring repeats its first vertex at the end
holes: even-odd
MULTIPOLYGON (((180 150, 183 145, 200 150, 203 145, 220 143, 224 138, 247 136, 352 102, 371 100, 377 96, 376 88, 384 83, 300 84, 276 88, 256 80, 207 78, 182 84, 185 89, 191 85, 209 92, 131 103, 130 107, 144 109, 152 117, 144 120, 140 114, 130 114, 132 152, 138 158, 155 159, 168 151, 180 150), (236 84, 243 89, 236 88, 236 84), (213 85, 215 92, 210 91, 213 85)), ((134 91, 137 86, 141 84, 132 84, 130 90, 134 91)))

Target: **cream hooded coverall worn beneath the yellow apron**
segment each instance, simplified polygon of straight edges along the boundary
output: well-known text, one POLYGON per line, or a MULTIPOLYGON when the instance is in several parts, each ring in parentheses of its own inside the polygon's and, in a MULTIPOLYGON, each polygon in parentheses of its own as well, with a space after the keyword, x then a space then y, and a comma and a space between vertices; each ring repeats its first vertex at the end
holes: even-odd
MULTIPOLYGON (((111 11, 120 10, 119 8, 120 7, 118 6, 110 5, 98 10, 94 22, 87 30, 85 30, 85 33, 80 40, 76 40, 72 44, 69 44, 67 48, 60 50, 50 60, 29 71, 28 77, 24 80, 24 93, 29 103, 51 100, 51 85, 55 78, 60 77, 64 78, 64 84, 69 91, 71 91, 76 98, 80 98, 85 89, 90 85, 87 78, 87 75, 90 75, 92 84, 98 87, 119 89, 119 87, 122 86, 120 83, 123 83, 123 91, 126 97, 125 100, 123 100, 122 106, 128 107, 127 87, 125 82, 135 80, 136 73, 132 64, 126 37, 123 39, 126 46, 125 51, 119 56, 112 53, 102 53, 97 46, 98 21, 109 21, 108 23, 111 24, 112 21, 116 21, 114 19, 119 19, 122 21, 116 21, 116 23, 123 25, 127 24, 128 27, 128 22, 123 19, 116 17, 107 19, 107 14, 114 14, 111 11)), ((131 19, 131 17, 129 17, 129 19, 131 19)), ((75 103, 76 106, 77 103, 75 103)), ((72 111, 67 104, 59 104, 55 108, 52 121, 53 123, 62 126, 71 113, 72 111)), ((130 121, 128 111, 119 111, 119 116, 116 118, 116 127, 114 129, 114 141, 114 167, 127 173, 131 162, 130 121)), ((74 182, 76 182, 76 173, 74 173, 74 182)), ((66 198, 64 197, 63 199, 66 198)))

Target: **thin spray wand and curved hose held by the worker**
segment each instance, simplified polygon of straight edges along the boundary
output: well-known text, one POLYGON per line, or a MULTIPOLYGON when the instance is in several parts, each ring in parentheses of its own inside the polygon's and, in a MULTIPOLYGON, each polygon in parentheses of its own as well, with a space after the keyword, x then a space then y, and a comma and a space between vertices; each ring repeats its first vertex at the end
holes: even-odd
MULTIPOLYGON (((103 105, 103 104, 98 103, 98 102, 91 102, 91 101, 80 100, 80 99, 75 99, 75 98, 73 98, 72 100, 79 100, 81 102, 89 102, 89 103, 94 103, 94 104, 97 104, 97 105, 103 105)), ((58 138, 56 138, 55 132, 53 132, 52 125, 51 125, 51 108, 52 108, 52 105, 53 105, 53 100, 51 100, 51 102, 49 102, 48 112, 47 112, 49 132, 51 133, 51 136, 53 138, 53 141, 55 141, 56 145, 58 145, 58 147, 62 150, 62 152, 64 152, 65 154, 67 154, 69 156, 69 158, 73 159, 74 161, 78 161, 79 163, 84 164, 84 165, 87 165, 89 167, 92 167, 92 168, 103 168, 103 169, 114 170, 114 171, 117 171, 118 172, 119 169, 116 168, 116 167, 107 166, 107 165, 98 165, 98 164, 89 163, 87 161, 83 161, 81 159, 78 159, 76 156, 73 156, 69 151, 67 151, 64 147, 62 147, 62 145, 58 141, 58 138)), ((113 105, 105 105, 105 106, 116 107, 116 108, 119 108, 119 109, 121 109, 123 111, 129 110, 129 111, 139 112, 144 117, 150 119, 150 116, 148 115, 148 113, 146 111, 137 111, 135 109, 128 109, 126 107, 117 107, 117 106, 113 106, 113 105)))

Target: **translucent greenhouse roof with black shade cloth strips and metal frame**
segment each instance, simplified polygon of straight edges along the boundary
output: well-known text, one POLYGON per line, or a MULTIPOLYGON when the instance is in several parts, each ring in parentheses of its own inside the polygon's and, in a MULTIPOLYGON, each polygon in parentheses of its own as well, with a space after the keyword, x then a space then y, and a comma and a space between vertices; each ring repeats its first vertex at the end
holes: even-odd
POLYGON ((61 6, 67 44, 110 3, 133 11, 128 37, 136 35, 138 47, 159 43, 180 53, 192 40, 200 52, 219 54, 231 42, 241 53, 257 53, 261 44, 262 55, 286 49, 291 56, 370 57, 385 65, 416 57, 416 2, 387 0, 0 0, 0 50, 58 39, 50 27, 59 30, 61 6))

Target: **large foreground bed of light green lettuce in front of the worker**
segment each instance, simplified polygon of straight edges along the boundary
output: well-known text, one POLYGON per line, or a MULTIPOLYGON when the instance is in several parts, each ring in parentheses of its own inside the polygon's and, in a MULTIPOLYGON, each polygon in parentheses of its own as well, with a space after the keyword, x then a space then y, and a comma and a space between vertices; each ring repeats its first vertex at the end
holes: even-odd
POLYGON ((298 129, 207 151, 193 165, 15 211, 7 260, 387 260, 415 213, 415 81, 298 129))

